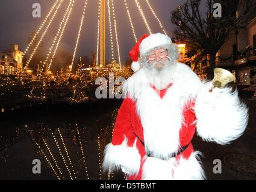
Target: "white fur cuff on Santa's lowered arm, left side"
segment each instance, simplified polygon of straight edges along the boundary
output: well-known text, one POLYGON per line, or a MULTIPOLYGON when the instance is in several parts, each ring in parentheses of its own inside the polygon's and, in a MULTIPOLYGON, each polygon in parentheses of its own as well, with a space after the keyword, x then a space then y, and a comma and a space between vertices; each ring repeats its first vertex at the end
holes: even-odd
POLYGON ((140 170, 140 154, 136 148, 137 139, 133 147, 127 146, 127 139, 123 140, 121 145, 109 143, 105 147, 103 170, 111 171, 122 169, 122 167, 131 175, 137 174, 140 170))

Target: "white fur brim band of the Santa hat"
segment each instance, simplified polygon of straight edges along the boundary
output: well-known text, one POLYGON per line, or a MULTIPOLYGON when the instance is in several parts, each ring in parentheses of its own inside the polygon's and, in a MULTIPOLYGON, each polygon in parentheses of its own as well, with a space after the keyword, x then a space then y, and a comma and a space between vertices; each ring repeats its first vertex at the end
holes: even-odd
POLYGON ((155 47, 164 46, 166 44, 171 44, 172 40, 167 35, 157 33, 151 34, 149 37, 145 38, 142 43, 140 43, 140 54, 145 55, 149 50, 155 47))

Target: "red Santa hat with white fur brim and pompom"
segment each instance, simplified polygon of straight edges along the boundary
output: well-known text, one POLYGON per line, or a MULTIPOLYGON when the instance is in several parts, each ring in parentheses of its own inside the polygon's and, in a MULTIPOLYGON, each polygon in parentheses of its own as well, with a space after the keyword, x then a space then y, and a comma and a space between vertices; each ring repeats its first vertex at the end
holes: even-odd
POLYGON ((129 52, 129 56, 132 59, 133 63, 131 64, 131 68, 134 72, 140 69, 140 64, 138 62, 139 54, 140 56, 145 56, 150 50, 155 47, 160 46, 169 46, 172 44, 172 40, 167 35, 157 33, 157 34, 145 34, 140 37, 139 41, 135 44, 135 46, 129 52))

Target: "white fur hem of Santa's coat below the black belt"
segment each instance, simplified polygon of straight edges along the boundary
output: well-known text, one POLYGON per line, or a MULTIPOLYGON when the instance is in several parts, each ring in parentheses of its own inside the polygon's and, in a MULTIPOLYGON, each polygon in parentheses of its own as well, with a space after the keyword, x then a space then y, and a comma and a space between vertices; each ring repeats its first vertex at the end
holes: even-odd
POLYGON ((146 157, 143 164, 143 180, 202 180, 205 179, 204 170, 199 161, 200 152, 193 152, 189 159, 180 160, 170 158, 168 161, 146 157))

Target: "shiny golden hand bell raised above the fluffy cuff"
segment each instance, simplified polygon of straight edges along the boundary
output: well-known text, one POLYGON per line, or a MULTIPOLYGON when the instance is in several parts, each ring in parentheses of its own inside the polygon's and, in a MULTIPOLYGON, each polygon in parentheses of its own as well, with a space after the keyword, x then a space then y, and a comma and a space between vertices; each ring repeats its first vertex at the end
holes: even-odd
POLYGON ((236 82, 236 77, 233 76, 228 70, 224 70, 223 68, 214 68, 214 78, 213 78, 213 86, 209 90, 212 92, 214 88, 224 88, 226 84, 230 82, 236 82))

